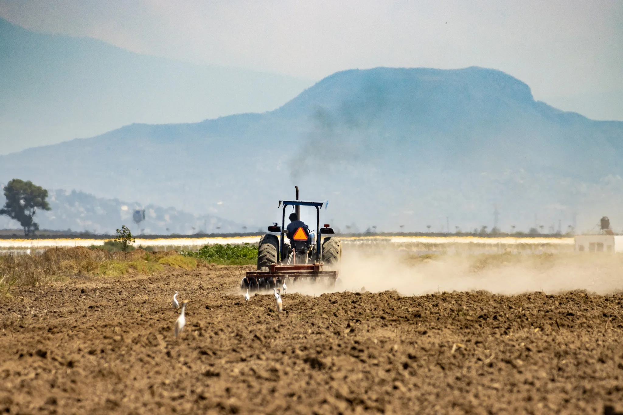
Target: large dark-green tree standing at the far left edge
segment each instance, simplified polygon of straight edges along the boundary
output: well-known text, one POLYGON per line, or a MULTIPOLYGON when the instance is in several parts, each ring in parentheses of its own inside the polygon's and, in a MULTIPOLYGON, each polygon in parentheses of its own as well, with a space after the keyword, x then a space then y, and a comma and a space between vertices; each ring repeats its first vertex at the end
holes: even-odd
POLYGON ((0 209, 0 215, 7 215, 24 228, 24 235, 34 235, 39 230, 39 224, 32 220, 37 209, 52 210, 45 201, 47 190, 33 184, 30 180, 13 179, 4 186, 6 203, 0 209))

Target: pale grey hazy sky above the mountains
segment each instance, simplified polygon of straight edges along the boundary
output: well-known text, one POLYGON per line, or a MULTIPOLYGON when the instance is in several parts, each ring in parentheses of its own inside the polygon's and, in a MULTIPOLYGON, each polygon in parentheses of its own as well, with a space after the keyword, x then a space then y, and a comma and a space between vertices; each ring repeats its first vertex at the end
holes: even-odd
POLYGON ((592 100, 583 111, 592 118, 623 111, 620 0, 0 0, 0 16, 133 52, 312 80, 350 68, 477 65, 549 103, 592 100))

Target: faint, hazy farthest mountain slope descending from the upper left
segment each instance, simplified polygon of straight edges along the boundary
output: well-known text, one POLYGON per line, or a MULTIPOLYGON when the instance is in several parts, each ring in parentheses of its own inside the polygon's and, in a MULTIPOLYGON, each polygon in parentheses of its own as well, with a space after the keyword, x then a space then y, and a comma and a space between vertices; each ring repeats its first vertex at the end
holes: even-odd
POLYGON ((312 85, 135 54, 0 19, 0 153, 141 123, 272 110, 312 85))

